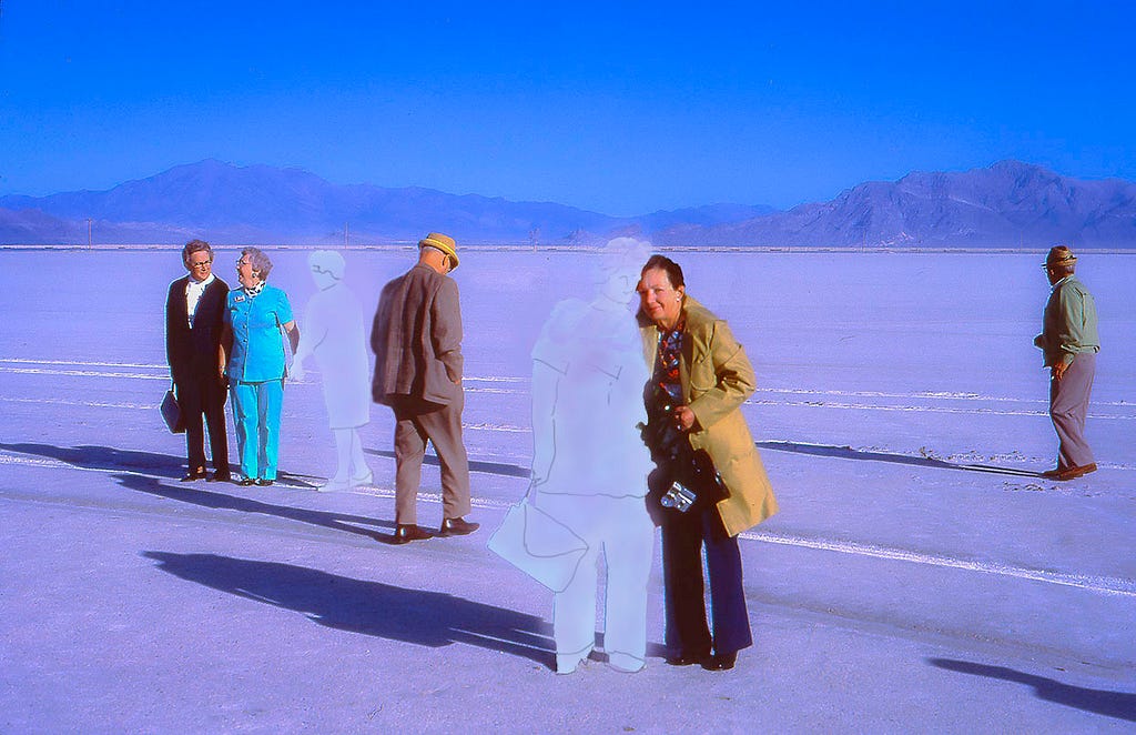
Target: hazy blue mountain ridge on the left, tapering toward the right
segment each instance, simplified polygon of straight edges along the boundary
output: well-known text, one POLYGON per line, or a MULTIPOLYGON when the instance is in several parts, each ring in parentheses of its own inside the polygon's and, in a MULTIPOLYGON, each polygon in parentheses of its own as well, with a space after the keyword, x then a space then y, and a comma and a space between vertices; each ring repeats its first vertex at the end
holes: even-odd
POLYGON ((299 168, 234 166, 218 160, 176 166, 107 191, 0 197, 6 242, 133 237, 179 242, 195 232, 216 242, 352 242, 415 240, 427 230, 465 242, 570 241, 621 228, 652 232, 675 222, 752 217, 771 208, 712 205, 644 217, 613 217, 553 203, 451 195, 420 187, 333 184, 299 168), (33 226, 28 212, 40 212, 33 226))

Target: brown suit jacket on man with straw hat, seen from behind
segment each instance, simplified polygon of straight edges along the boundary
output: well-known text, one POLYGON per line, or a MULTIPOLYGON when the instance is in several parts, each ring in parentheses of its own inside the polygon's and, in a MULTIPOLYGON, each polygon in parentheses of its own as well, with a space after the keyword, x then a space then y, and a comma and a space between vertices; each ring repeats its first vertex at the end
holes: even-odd
POLYGON ((419 263, 383 288, 370 331, 376 403, 403 398, 448 406, 461 396, 458 284, 419 263))

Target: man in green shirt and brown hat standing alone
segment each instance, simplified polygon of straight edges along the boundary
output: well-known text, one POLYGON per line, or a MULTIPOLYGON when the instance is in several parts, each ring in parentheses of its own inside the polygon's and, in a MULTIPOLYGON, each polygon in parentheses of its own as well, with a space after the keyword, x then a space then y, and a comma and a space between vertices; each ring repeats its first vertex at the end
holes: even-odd
POLYGON ((1074 275, 1077 256, 1059 245, 1045 258, 1052 290, 1045 304, 1042 333, 1034 345, 1042 348, 1050 369, 1050 418, 1060 448, 1056 468, 1044 477, 1071 480, 1096 470, 1093 451, 1085 440, 1085 415, 1096 372, 1101 338, 1096 332, 1096 305, 1084 283, 1074 275))

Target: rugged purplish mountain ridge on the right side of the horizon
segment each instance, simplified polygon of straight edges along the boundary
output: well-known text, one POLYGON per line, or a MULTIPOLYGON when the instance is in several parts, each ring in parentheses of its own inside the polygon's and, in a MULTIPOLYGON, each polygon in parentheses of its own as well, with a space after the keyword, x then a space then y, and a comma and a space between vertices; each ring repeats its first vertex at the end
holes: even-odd
POLYGON ((716 226, 677 226, 660 245, 1136 247, 1136 184, 1085 181, 1004 160, 960 173, 867 182, 824 204, 716 226))

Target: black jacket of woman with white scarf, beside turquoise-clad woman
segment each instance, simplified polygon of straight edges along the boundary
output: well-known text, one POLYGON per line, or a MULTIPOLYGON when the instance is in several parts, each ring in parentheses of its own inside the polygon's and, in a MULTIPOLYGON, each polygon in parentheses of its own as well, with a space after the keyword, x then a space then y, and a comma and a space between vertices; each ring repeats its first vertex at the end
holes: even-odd
POLYGON ((228 284, 218 279, 206 287, 190 329, 185 314, 185 275, 169 284, 166 297, 166 361, 174 382, 217 374, 217 348, 225 319, 228 284))

